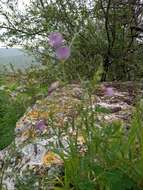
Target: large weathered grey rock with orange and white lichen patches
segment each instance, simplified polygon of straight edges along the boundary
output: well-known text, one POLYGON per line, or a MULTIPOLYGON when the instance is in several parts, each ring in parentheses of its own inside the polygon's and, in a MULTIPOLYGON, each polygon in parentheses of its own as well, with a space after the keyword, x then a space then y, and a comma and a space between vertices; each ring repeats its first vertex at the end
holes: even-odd
MULTIPOLYGON (((63 175, 64 161, 56 152, 68 150, 68 141, 74 135, 74 129, 68 127, 65 131, 64 126, 73 118, 78 118, 78 108, 90 107, 97 110, 99 121, 119 120, 127 126, 136 90, 132 83, 104 83, 89 96, 79 84, 57 85, 46 98, 28 108, 17 122, 15 142, 0 152, 3 188, 7 186, 8 190, 16 190, 18 182, 27 183, 33 174, 36 177, 46 175, 49 179, 63 175), (109 89, 109 92, 108 88, 112 90, 109 89)), ((83 144, 84 139, 79 134, 79 149, 83 144)), ((38 180, 35 190, 38 189, 37 183, 38 180)), ((53 189, 53 185, 49 184, 48 189, 53 189)))

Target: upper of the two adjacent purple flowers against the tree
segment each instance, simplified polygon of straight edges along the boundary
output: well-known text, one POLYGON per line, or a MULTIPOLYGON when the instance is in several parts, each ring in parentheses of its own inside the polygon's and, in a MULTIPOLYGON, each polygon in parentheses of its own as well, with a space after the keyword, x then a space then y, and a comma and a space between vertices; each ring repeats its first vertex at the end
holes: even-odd
POLYGON ((63 36, 61 33, 59 32, 52 32, 49 35, 49 44, 54 47, 57 48, 59 46, 62 46, 64 42, 63 36))

